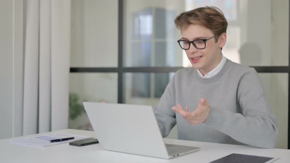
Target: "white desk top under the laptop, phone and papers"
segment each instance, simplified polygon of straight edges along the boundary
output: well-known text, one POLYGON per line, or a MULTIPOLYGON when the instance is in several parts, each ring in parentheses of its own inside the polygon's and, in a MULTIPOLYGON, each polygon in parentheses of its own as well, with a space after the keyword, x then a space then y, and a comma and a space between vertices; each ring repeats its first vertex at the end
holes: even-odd
MULTIPOLYGON (((81 130, 68 129, 52 133, 66 133, 96 137, 93 132, 81 130)), ((40 136, 45 134, 48 133, 38 135, 40 136)), ((290 163, 290 150, 286 149, 261 149, 250 146, 175 139, 164 139, 164 141, 172 144, 198 146, 201 147, 201 151, 171 160, 164 160, 105 151, 101 150, 99 144, 77 147, 65 143, 41 149, 14 145, 9 143, 9 139, 2 139, 0 140, 0 163, 208 163, 231 153, 278 157, 280 159, 275 163, 290 163)))

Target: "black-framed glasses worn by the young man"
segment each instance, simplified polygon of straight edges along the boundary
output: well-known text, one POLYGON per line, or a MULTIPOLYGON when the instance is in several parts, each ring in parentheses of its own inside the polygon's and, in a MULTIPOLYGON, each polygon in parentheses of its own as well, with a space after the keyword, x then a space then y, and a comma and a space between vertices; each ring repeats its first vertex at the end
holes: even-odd
POLYGON ((190 48, 190 44, 196 48, 196 49, 204 49, 206 46, 206 41, 209 39, 212 39, 213 37, 216 37, 217 35, 214 35, 212 37, 206 38, 206 39, 198 39, 198 40, 193 40, 193 41, 188 41, 188 40, 177 40, 179 46, 183 50, 188 50, 190 48))

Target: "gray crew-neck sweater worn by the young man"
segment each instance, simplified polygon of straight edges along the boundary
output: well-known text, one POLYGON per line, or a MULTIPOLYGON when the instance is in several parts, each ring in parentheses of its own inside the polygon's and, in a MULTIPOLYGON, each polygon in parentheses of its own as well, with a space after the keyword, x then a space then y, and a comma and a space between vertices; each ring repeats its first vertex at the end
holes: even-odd
POLYGON ((274 148, 278 135, 258 73, 229 59, 212 78, 200 77, 192 67, 178 70, 154 113, 164 137, 176 124, 178 139, 274 148), (191 125, 171 109, 181 104, 193 111, 201 98, 210 106, 202 124, 191 125))

